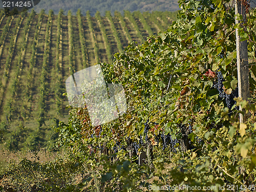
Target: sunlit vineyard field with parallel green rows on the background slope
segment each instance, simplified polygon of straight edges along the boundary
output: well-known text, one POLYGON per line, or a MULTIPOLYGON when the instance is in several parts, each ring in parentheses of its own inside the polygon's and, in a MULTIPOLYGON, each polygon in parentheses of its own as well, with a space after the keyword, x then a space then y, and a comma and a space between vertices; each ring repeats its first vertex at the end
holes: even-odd
POLYGON ((125 11, 114 16, 97 12, 92 17, 80 11, 76 16, 32 11, 7 17, 2 11, 0 133, 27 137, 9 140, 8 148, 22 148, 20 143, 40 138, 51 140, 51 127, 68 119, 68 101, 62 96, 67 77, 95 62, 113 62, 114 53, 124 52, 131 41, 140 44, 147 35, 166 30, 175 16, 173 12, 125 11))

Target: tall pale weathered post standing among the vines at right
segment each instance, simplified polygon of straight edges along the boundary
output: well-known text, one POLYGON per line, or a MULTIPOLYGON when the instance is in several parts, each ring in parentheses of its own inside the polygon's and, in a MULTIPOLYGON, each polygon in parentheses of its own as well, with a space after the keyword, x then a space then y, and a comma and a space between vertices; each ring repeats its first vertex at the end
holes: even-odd
MULTIPOLYGON (((240 24, 243 27, 246 23, 246 8, 241 4, 241 1, 235 0, 235 13, 243 16, 243 21, 239 21, 236 17, 236 24, 240 24)), ((238 94, 243 100, 248 100, 250 97, 249 91, 249 68, 248 68, 248 50, 247 40, 240 41, 238 29, 236 29, 236 45, 237 45, 237 66, 238 66, 238 94)), ((242 110, 240 106, 240 110, 242 110)), ((245 112, 245 110, 243 110, 245 112)), ((246 121, 247 115, 244 117, 240 114, 240 123, 246 121)))

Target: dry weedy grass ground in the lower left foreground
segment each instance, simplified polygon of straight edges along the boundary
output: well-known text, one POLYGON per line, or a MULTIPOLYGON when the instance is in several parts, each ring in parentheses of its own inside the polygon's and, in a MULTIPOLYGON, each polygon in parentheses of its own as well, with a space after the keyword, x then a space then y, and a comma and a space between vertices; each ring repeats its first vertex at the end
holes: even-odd
MULTIPOLYGON (((0 189, 2 191, 109 191, 108 188, 122 190, 123 185, 118 178, 103 183, 94 177, 96 173, 104 171, 102 164, 91 167, 86 162, 76 162, 70 159, 69 150, 49 152, 39 150, 37 152, 11 152, 0 151, 0 189), (94 176, 93 176, 94 175, 94 176), (88 181, 87 181, 88 180, 88 181), (83 183, 83 184, 82 184, 83 183), (78 190, 79 189, 79 190, 78 190)), ((97 163, 97 160, 94 160, 97 163)), ((164 163, 162 174, 168 173, 172 164, 164 163)), ((135 166, 137 167, 137 166, 135 166)), ((138 167, 137 167, 138 168, 138 167)), ((140 167, 138 170, 146 170, 140 167)), ((115 170, 112 170, 113 172, 115 170)), ((161 182, 159 177, 148 177, 141 172, 137 177, 137 185, 141 182, 153 184, 155 181, 161 182)), ((138 186, 142 191, 148 191, 147 187, 138 186)))

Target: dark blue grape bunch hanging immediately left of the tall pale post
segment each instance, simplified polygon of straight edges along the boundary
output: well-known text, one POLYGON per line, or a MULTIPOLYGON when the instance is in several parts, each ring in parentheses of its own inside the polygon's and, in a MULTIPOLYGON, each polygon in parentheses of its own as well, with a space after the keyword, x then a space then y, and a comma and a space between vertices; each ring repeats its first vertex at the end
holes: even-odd
POLYGON ((220 71, 217 72, 217 80, 212 84, 212 88, 217 89, 219 92, 219 97, 225 99, 226 105, 230 110, 236 102, 234 101, 234 97, 238 97, 238 88, 233 90, 231 94, 226 94, 223 89, 224 78, 220 71))

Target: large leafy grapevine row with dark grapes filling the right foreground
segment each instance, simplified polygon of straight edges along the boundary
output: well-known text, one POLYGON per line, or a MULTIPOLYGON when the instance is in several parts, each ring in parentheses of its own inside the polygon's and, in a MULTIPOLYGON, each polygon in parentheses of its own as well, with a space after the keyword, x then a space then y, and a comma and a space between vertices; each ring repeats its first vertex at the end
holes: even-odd
MULTIPOLYGON (((169 144, 174 152, 173 162, 178 167, 169 172, 177 175, 172 184, 181 184, 188 178, 194 178, 189 180, 190 184, 203 180, 208 185, 225 181, 236 184, 239 183, 237 179, 222 177, 220 172, 230 170, 229 175, 241 180, 251 177, 250 174, 244 178, 239 176, 240 166, 255 174, 252 168, 255 155, 251 160, 249 156, 255 153, 252 150, 255 133, 250 129, 251 135, 243 137, 244 128, 239 131, 241 135, 237 131, 239 120, 235 105, 244 102, 238 100, 236 103, 234 99, 238 96, 235 29, 239 29, 243 40, 248 40, 252 65, 250 91, 255 98, 256 39, 252 29, 255 28, 256 11, 250 10, 244 30, 235 25, 234 9, 228 1, 180 0, 179 4, 182 10, 167 31, 148 36, 141 45, 132 42, 125 53, 114 55, 111 65, 100 63, 108 83, 122 84, 127 112, 101 125, 101 137, 91 138, 91 134, 97 133, 97 127, 90 126, 86 108, 72 109, 72 119, 80 122, 79 139, 83 143, 97 146, 108 141, 106 145, 113 152, 125 150, 130 140, 136 153, 148 143, 162 150, 169 144), (240 155, 245 159, 241 160, 240 155), (232 161, 237 164, 232 165, 232 161), (180 167, 188 171, 180 172, 180 167), (201 177, 198 167, 209 178, 201 177), (214 174, 219 176, 216 181, 213 181, 214 174)), ((248 103, 243 107, 248 110, 248 103)), ((251 109, 253 111, 255 109, 251 109)), ((248 127, 255 122, 253 118, 248 127)))

